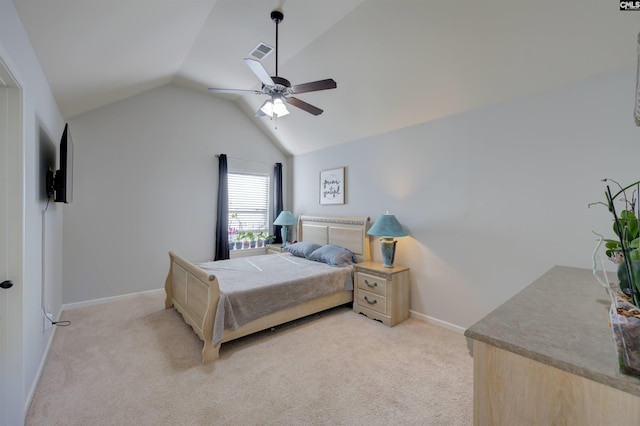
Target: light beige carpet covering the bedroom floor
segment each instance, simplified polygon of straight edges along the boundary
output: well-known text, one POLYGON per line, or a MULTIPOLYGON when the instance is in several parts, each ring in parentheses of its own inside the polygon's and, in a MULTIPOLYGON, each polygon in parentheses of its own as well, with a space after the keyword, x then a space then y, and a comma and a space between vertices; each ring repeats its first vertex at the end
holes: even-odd
POLYGON ((63 312, 27 425, 470 425, 465 338, 335 308, 202 343, 164 296, 63 312))

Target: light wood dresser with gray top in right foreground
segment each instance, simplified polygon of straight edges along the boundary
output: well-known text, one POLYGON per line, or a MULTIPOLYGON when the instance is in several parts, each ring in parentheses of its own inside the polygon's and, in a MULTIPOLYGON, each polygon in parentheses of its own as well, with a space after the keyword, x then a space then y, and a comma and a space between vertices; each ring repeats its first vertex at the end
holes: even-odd
POLYGON ((473 424, 637 425, 640 378, 620 372, 610 304, 590 269, 554 266, 470 327, 473 424))

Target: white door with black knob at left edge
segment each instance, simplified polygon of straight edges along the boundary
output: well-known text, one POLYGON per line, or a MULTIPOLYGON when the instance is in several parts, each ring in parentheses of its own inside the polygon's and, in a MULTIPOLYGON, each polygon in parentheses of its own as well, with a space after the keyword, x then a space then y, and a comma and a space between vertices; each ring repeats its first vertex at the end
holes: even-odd
POLYGON ((21 110, 21 91, 0 58, 0 426, 24 423, 21 110))

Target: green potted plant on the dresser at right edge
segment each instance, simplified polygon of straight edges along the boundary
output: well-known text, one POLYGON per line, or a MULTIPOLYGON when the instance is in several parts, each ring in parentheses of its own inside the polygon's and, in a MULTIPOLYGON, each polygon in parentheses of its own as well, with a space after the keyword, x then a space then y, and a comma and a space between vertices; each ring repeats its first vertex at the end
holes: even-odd
MULTIPOLYGON (((606 239, 600 236, 598 247, 605 243, 606 256, 616 263, 618 283, 601 282, 609 286, 611 296, 609 320, 618 352, 618 364, 623 373, 640 376, 640 206, 637 195, 640 181, 622 187, 618 182, 604 179, 615 184, 615 192, 607 185, 604 204, 613 216, 613 233, 616 238, 606 239), (627 192, 631 192, 628 196, 627 192), (617 201, 622 201, 618 209, 617 201)), ((592 205, 590 204, 590 206, 592 205)), ((597 234, 599 235, 599 234, 597 234)), ((596 248, 596 251, 598 249, 596 248)), ((596 278, 594 252, 594 275, 596 278)), ((606 280, 604 280, 606 281, 606 280)))

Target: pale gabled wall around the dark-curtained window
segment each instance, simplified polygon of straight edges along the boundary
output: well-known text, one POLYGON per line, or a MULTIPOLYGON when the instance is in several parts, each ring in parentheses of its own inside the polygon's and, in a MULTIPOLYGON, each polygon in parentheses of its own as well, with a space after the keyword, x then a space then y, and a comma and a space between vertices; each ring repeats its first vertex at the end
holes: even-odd
POLYGON ((243 159, 288 170, 285 155, 235 104, 178 86, 69 125, 75 176, 64 216, 65 303, 162 288, 169 250, 211 259, 216 154, 227 154, 230 166, 243 159))

